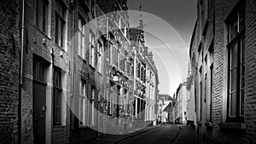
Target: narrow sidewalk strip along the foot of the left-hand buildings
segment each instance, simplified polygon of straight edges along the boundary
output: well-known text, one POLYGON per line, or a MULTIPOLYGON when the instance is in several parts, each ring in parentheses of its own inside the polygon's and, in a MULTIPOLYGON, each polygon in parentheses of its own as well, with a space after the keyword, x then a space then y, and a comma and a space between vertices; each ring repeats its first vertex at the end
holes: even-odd
POLYGON ((148 127, 144 128, 143 130, 129 131, 131 133, 125 134, 125 135, 107 135, 105 137, 92 140, 88 144, 115 144, 115 143, 118 143, 119 141, 123 141, 129 137, 139 135, 139 134, 142 134, 143 132, 158 129, 158 128, 160 128, 160 125, 148 126, 148 127))

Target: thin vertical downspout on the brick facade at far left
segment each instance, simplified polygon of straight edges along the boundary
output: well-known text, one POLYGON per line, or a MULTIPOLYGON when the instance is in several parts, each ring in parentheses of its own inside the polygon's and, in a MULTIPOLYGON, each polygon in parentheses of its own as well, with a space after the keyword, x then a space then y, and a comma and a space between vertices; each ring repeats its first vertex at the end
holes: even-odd
POLYGON ((24 49, 24 20, 25 20, 25 0, 22 0, 21 11, 21 37, 20 37, 20 72, 19 72, 19 95, 18 95, 18 143, 21 144, 21 87, 23 76, 23 49, 24 49))

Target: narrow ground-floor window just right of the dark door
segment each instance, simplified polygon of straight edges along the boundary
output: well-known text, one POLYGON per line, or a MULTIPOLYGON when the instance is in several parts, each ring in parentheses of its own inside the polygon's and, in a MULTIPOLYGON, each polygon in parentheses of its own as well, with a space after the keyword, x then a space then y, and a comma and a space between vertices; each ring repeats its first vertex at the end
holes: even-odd
POLYGON ((62 88, 61 88, 61 69, 54 67, 54 104, 53 104, 53 114, 54 114, 54 125, 61 125, 61 101, 62 101, 62 88))

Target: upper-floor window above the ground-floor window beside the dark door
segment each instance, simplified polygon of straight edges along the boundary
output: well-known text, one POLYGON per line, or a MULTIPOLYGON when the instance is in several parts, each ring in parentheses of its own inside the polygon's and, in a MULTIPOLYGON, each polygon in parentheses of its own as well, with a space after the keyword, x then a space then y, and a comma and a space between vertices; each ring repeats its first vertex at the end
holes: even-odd
POLYGON ((63 3, 56 1, 55 6, 55 43, 57 43, 61 48, 64 48, 65 42, 65 14, 66 7, 63 3))

